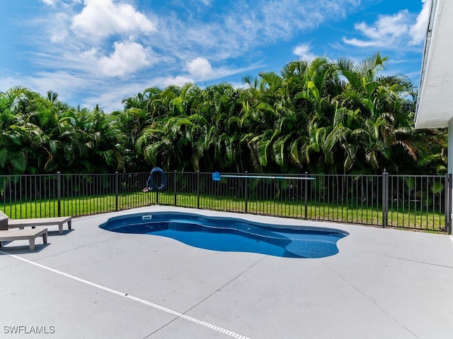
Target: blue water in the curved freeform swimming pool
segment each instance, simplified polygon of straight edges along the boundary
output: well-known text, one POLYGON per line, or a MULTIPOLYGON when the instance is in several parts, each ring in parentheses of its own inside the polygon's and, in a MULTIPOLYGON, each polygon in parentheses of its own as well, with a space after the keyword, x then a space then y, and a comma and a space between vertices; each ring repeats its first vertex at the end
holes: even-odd
POLYGON ((348 232, 331 228, 275 226, 235 218, 153 212, 122 215, 100 225, 121 233, 153 234, 214 251, 242 251, 289 258, 322 258, 338 253, 348 232))

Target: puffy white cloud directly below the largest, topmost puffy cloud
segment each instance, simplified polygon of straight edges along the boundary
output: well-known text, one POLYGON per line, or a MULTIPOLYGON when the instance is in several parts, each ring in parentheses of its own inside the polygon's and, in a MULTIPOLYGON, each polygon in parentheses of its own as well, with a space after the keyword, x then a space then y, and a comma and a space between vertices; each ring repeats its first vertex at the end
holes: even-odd
POLYGON ((147 56, 150 50, 137 42, 115 42, 114 47, 113 54, 98 61, 99 71, 104 76, 124 76, 151 64, 147 56))

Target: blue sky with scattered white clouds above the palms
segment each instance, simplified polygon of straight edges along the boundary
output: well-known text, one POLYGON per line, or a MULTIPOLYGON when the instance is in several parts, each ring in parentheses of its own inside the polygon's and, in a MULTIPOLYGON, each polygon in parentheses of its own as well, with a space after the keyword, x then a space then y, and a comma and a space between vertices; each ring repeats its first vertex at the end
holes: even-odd
POLYGON ((430 0, 0 1, 0 91, 122 109, 149 87, 280 73, 295 59, 389 57, 418 86, 430 0))

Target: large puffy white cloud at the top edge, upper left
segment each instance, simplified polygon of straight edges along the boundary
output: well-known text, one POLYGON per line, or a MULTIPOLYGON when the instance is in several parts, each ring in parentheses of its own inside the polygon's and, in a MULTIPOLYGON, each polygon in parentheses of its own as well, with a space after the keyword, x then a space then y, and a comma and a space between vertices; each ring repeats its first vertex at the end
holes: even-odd
POLYGON ((84 5, 81 13, 74 16, 71 28, 88 37, 156 30, 156 25, 130 4, 114 4, 112 0, 85 0, 84 5))

